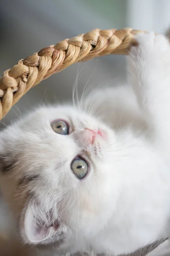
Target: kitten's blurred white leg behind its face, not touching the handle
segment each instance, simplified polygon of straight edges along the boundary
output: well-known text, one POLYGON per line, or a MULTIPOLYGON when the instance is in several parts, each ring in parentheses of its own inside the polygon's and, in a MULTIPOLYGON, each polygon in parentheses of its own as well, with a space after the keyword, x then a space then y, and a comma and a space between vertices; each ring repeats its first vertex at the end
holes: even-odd
POLYGON ((141 130, 145 125, 130 86, 119 84, 105 90, 97 88, 83 103, 91 107, 92 111, 88 112, 99 116, 114 130, 119 131, 120 128, 127 126, 141 130))

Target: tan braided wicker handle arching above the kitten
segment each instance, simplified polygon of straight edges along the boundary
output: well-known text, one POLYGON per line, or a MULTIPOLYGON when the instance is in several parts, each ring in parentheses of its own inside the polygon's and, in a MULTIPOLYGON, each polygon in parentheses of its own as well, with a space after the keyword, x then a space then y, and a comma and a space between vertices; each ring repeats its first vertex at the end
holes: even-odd
POLYGON ((32 87, 78 61, 108 54, 127 54, 139 30, 94 29, 65 39, 22 59, 0 79, 0 119, 32 87))

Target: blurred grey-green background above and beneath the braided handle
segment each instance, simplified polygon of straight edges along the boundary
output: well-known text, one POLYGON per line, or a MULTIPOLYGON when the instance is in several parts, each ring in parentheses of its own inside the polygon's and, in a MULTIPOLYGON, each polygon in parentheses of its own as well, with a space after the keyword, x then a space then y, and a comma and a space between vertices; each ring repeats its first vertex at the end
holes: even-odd
MULTIPOLYGON (((0 0, 0 74, 22 58, 65 38, 100 29, 132 27, 164 32, 169 0, 0 0)), ((39 103, 71 100, 78 64, 42 81, 11 109, 8 123, 39 103)), ((79 64, 78 88, 124 83, 125 57, 106 56, 79 64)))

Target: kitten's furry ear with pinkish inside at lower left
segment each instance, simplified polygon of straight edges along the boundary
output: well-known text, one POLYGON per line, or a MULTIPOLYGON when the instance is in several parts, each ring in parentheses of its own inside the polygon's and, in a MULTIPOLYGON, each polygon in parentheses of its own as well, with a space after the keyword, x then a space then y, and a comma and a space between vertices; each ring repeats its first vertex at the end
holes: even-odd
POLYGON ((26 243, 50 244, 62 241, 67 228, 58 219, 55 220, 52 212, 45 212, 35 200, 31 200, 20 218, 21 236, 26 243))

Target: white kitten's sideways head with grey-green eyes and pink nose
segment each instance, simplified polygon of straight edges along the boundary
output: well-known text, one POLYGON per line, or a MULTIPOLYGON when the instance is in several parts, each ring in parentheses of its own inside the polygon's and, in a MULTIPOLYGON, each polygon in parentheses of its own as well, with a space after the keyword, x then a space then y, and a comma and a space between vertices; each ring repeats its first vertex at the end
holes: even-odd
POLYGON ((0 185, 24 241, 91 236, 113 211, 114 133, 72 107, 44 107, 0 133, 0 185))

